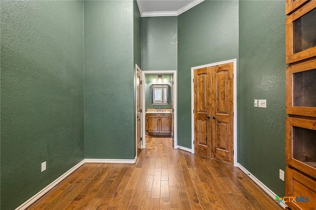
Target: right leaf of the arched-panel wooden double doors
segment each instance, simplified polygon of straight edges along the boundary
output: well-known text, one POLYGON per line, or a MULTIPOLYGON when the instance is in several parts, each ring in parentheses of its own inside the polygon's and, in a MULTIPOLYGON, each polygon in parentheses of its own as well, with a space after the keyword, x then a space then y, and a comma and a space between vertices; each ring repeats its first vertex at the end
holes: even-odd
POLYGON ((234 64, 211 68, 212 158, 234 164, 234 64))

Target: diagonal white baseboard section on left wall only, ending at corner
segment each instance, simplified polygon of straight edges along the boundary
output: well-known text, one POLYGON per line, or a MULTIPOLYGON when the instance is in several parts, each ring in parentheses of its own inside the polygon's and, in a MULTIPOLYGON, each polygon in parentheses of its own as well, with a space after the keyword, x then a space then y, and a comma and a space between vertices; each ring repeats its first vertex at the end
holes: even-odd
POLYGON ((25 210, 28 207, 30 207, 33 203, 35 203, 37 200, 40 199, 44 194, 46 194, 49 190, 53 189, 59 182, 64 180, 67 176, 69 176, 71 173, 73 173, 75 170, 77 170, 80 166, 82 166, 85 163, 85 160, 82 160, 79 162, 76 166, 71 168, 69 171, 67 171, 65 174, 59 176, 55 181, 48 184, 46 187, 44 187, 40 192, 35 194, 33 197, 31 197, 29 200, 24 202, 21 206, 16 208, 15 210, 25 210))

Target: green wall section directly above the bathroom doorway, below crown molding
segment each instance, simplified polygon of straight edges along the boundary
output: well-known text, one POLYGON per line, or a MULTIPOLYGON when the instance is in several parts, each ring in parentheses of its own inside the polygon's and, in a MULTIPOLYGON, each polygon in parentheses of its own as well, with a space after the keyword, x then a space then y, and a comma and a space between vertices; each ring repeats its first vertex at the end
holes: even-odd
POLYGON ((141 18, 142 70, 177 70, 178 18, 141 18))

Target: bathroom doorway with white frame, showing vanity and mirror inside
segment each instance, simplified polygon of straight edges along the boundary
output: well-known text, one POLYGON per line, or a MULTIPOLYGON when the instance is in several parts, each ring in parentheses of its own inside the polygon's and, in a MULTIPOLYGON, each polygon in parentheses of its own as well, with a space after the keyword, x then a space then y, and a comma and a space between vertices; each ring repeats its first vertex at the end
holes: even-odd
POLYGON ((178 148, 176 71, 142 71, 142 84, 142 136, 172 138, 178 148))

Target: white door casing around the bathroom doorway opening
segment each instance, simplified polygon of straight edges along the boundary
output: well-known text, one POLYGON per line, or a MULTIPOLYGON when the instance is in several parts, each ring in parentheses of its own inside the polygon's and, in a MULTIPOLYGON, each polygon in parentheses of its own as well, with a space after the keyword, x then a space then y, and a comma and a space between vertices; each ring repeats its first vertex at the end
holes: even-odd
MULTIPOLYGON (((177 140, 177 71, 176 70, 143 70, 142 71, 142 79, 145 80, 145 74, 173 74, 173 140, 174 140, 174 148, 178 147, 177 140)), ((142 111, 142 136, 146 137, 146 119, 145 119, 145 85, 142 85, 142 107, 144 110, 142 111)), ((146 148, 146 140, 143 140, 142 148, 146 148)))

